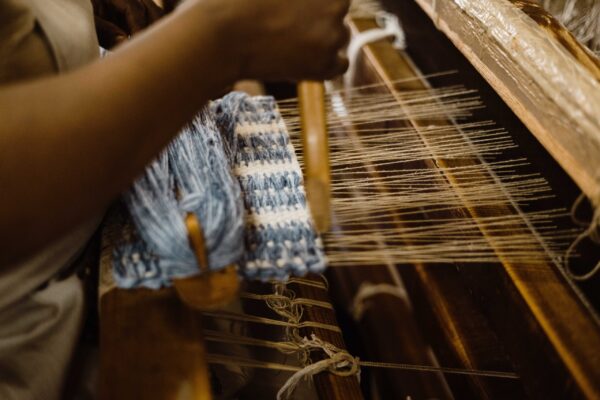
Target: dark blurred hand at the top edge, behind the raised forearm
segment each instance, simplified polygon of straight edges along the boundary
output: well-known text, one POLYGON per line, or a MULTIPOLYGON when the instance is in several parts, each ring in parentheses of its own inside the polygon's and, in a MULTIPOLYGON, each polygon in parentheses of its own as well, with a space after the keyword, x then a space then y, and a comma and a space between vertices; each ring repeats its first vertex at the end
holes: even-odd
POLYGON ((92 0, 92 4, 98 40, 105 49, 127 40, 165 13, 152 0, 92 0))

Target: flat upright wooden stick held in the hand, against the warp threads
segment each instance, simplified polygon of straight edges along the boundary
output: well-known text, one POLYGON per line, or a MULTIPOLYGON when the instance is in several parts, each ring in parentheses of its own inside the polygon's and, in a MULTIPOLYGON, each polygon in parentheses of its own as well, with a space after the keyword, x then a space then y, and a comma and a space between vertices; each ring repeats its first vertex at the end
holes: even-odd
POLYGON ((299 83, 298 99, 306 196, 317 230, 326 232, 331 219, 331 172, 323 82, 299 83))

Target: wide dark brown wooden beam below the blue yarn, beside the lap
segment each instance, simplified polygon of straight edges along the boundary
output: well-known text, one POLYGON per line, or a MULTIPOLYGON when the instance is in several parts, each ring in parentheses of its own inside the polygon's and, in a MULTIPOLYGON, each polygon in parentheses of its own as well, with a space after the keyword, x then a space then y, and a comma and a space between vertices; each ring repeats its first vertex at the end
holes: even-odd
POLYGON ((211 398, 201 317, 174 290, 111 290, 100 320, 101 399, 211 398))

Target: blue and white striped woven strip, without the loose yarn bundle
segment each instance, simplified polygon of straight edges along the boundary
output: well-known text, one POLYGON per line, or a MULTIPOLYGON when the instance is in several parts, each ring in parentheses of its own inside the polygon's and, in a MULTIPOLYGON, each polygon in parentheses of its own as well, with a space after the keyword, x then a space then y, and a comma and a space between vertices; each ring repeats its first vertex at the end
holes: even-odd
POLYGON ((268 280, 322 272, 323 246, 275 100, 231 93, 211 110, 229 143, 233 173, 242 187, 247 213, 244 275, 268 280))

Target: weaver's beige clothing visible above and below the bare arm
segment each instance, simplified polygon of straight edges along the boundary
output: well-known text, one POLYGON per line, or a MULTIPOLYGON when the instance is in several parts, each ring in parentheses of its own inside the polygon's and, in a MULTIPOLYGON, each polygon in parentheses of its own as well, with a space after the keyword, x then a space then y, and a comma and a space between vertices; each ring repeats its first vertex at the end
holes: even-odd
MULTIPOLYGON (((71 70, 97 56, 90 0, 0 0, 0 85, 71 70)), ((0 399, 61 397, 84 307, 79 279, 58 275, 97 224, 52 238, 25 262, 0 266, 0 399)))

